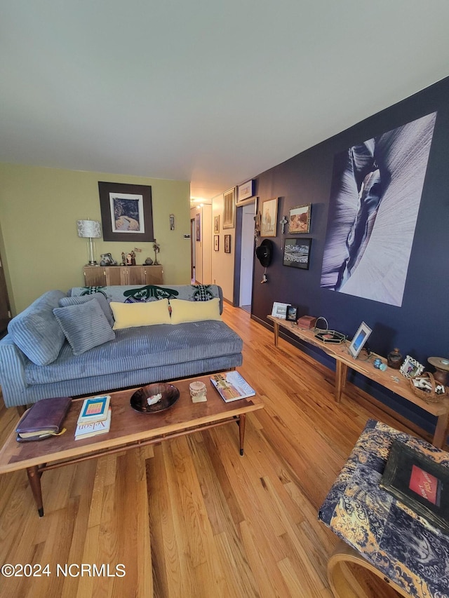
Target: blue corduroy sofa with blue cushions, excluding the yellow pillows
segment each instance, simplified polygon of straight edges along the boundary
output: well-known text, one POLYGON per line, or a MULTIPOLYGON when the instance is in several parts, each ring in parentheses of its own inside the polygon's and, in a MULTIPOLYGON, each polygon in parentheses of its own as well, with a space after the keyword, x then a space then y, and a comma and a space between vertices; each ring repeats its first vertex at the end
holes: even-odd
MULTIPOLYGON (((11 320, 8 334, 0 341, 0 385, 6 407, 241 365, 243 341, 220 315, 176 324, 111 327, 111 302, 168 299, 173 304, 173 299, 214 298, 218 298, 221 314, 222 290, 217 285, 74 287, 67 293, 53 290, 43 294, 11 320), (68 323, 67 316, 71 318, 68 323), (91 347, 92 338, 99 344, 91 347), (80 339, 81 348, 76 346, 80 339)), ((204 311, 206 304, 197 308, 204 311)))

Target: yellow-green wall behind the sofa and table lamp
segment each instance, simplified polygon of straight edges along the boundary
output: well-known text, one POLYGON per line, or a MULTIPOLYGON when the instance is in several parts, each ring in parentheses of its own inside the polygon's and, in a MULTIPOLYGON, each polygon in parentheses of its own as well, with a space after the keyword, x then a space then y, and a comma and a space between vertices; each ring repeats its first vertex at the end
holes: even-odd
MULTIPOLYGON (((158 261, 164 283, 187 284, 190 280, 189 195, 187 181, 110 175, 102 172, 57 170, 0 164, 0 226, 2 257, 6 261, 8 292, 13 315, 51 289, 67 291, 83 285, 88 240, 79 238, 76 220, 101 221, 98 181, 152 186, 154 236, 161 245, 158 261), (170 231, 169 215, 175 215, 170 231)), ((136 263, 154 259, 152 243, 95 240, 95 257, 140 247, 136 263)))

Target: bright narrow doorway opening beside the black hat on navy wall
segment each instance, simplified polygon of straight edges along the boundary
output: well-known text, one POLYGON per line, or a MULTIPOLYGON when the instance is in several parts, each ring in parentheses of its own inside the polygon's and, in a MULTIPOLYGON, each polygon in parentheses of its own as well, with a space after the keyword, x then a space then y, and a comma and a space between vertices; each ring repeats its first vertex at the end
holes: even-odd
POLYGON ((240 296, 239 307, 251 313, 254 269, 255 203, 243 205, 241 218, 240 296))

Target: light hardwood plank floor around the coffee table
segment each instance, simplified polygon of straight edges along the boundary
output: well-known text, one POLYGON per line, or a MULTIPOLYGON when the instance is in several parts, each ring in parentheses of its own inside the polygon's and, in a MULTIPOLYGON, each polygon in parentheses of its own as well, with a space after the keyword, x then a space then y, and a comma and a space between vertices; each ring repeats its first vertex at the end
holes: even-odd
MULTIPOLYGON (((51 470, 41 519, 25 472, 0 476, 0 564, 50 572, 0 576, 1 597, 331 596, 336 538, 319 506, 368 418, 413 430, 351 384, 335 403, 333 372, 286 341, 275 348, 246 311, 227 305, 224 318, 243 337, 239 371, 265 405, 247 418, 244 456, 231 423, 51 470), (81 564, 109 564, 109 576, 81 575, 81 564), (114 576, 117 564, 125 576, 114 576)), ((17 419, 1 404, 0 440, 17 419)))

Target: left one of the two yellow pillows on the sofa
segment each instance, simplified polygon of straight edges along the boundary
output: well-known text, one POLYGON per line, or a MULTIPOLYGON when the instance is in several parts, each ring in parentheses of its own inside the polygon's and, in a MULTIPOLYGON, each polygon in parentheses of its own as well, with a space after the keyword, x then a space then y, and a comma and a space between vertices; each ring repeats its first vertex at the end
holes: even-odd
POLYGON ((152 326, 154 324, 170 324, 168 299, 148 301, 147 303, 121 303, 111 301, 109 304, 114 314, 113 330, 133 328, 135 326, 152 326))

